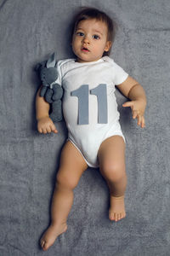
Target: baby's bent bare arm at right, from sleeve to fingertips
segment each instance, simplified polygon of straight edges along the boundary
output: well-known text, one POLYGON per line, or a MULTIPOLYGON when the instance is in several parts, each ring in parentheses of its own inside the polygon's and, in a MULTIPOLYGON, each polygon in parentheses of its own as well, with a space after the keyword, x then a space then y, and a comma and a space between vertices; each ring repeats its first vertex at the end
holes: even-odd
POLYGON ((127 79, 118 85, 118 89, 122 91, 124 96, 127 96, 131 102, 125 102, 123 107, 130 107, 133 112, 133 119, 138 119, 138 125, 145 127, 144 110, 146 108, 146 96, 143 87, 133 78, 127 79))

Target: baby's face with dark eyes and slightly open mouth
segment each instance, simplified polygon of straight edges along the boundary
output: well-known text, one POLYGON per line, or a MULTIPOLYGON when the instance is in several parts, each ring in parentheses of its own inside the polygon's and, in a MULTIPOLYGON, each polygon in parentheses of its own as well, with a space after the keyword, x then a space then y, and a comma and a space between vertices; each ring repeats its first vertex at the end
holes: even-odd
POLYGON ((100 20, 82 20, 72 38, 72 50, 78 62, 98 61, 111 48, 107 26, 100 20))

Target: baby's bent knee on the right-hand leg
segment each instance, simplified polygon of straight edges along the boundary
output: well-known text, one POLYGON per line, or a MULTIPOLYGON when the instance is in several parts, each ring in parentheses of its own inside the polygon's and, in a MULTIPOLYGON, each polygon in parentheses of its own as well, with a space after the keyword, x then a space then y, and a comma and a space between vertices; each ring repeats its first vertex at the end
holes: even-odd
POLYGON ((124 163, 116 163, 112 161, 107 161, 105 165, 102 166, 101 173, 112 183, 119 182, 122 178, 126 177, 124 163))

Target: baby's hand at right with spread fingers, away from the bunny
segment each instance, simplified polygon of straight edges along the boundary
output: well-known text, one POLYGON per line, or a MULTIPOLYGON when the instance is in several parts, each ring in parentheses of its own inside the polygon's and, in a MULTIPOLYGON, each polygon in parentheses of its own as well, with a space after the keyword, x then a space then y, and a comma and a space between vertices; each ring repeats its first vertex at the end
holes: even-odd
POLYGON ((133 119, 137 118, 138 125, 141 126, 141 128, 145 127, 144 110, 146 108, 146 103, 143 100, 125 102, 124 104, 122 104, 122 107, 130 107, 132 109, 133 119))

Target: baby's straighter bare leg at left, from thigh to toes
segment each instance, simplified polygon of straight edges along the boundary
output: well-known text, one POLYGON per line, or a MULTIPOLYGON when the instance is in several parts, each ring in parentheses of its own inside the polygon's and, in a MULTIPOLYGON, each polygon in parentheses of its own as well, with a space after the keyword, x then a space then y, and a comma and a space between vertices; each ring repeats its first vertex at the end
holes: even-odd
POLYGON ((56 177, 51 208, 51 224, 41 239, 41 246, 44 251, 54 244, 57 236, 66 231, 66 220, 73 203, 73 189, 76 188, 82 172, 87 167, 82 154, 71 142, 67 142, 61 153, 59 172, 56 177))

